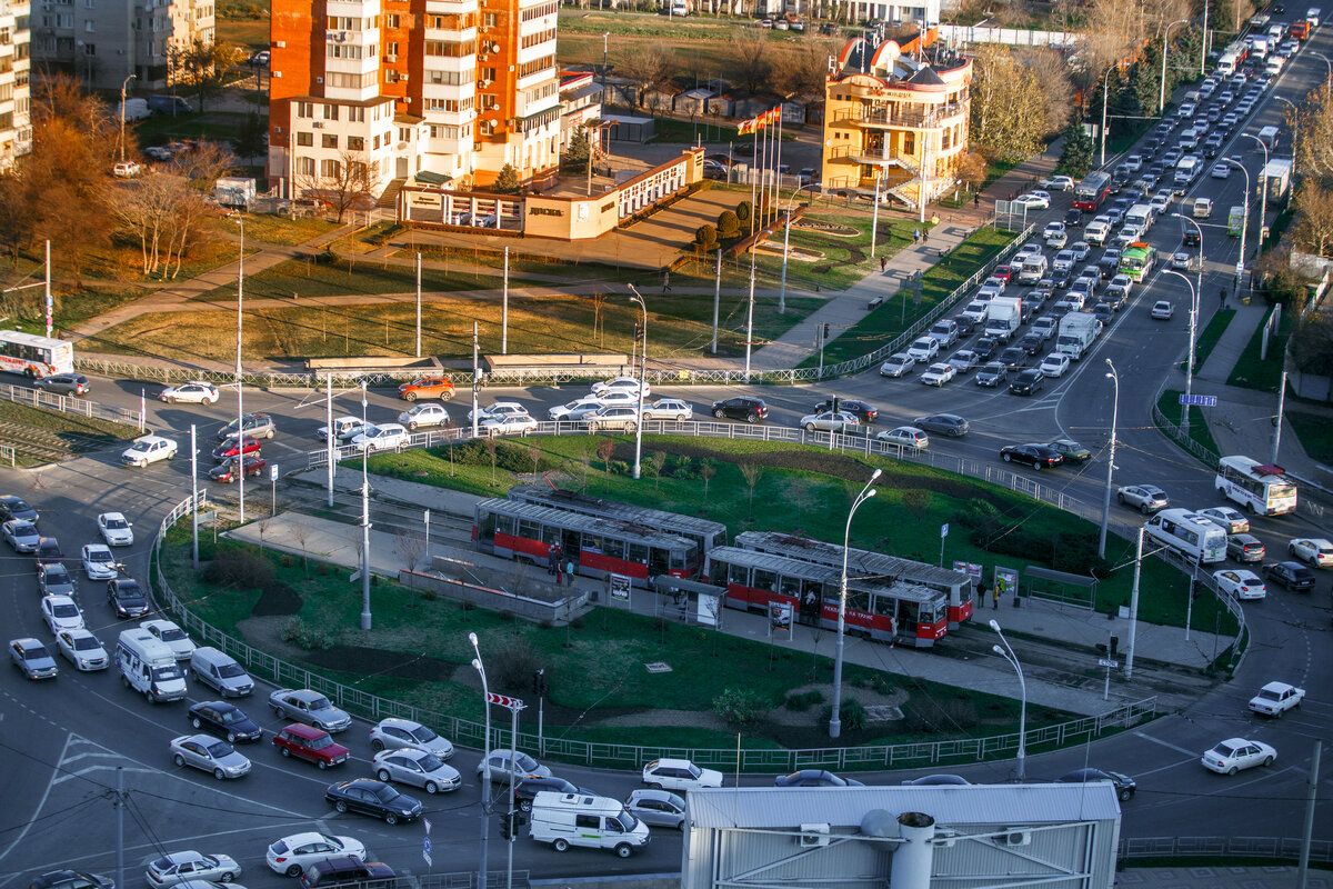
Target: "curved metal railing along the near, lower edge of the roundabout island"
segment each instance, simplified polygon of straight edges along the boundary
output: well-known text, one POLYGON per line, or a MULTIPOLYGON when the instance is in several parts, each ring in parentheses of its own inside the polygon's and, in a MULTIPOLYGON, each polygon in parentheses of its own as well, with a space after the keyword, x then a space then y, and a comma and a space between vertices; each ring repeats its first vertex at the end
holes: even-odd
MULTIPOLYGON (((199 496, 197 506, 207 502, 207 493, 199 496)), ((245 642, 228 636, 205 622, 189 609, 167 582, 161 570, 161 544, 167 532, 195 509, 191 497, 167 513, 153 537, 149 552, 149 576, 153 580, 153 593, 159 604, 172 612, 180 624, 201 645, 219 648, 245 665, 251 673, 263 676, 283 686, 311 688, 323 692, 339 706, 368 717, 381 720, 389 716, 415 720, 432 726, 451 737, 455 744, 481 749, 485 726, 480 722, 460 720, 448 713, 436 713, 424 708, 403 704, 389 698, 369 694, 359 688, 335 682, 303 666, 289 664, 268 652, 251 648, 245 642)), ((1089 716, 1070 722, 1045 725, 1028 729, 1026 746, 1041 744, 1064 745, 1090 741, 1109 730, 1130 728, 1157 714, 1157 698, 1149 697, 1130 704, 1122 704, 1109 713, 1089 716)), ((491 746, 508 746, 509 732, 492 729, 491 746)), ((604 768, 639 769, 652 760, 682 757, 700 765, 740 769, 742 772, 784 773, 802 768, 830 769, 894 769, 917 765, 937 765, 941 762, 980 761, 990 756, 1006 754, 1018 749, 1018 733, 981 738, 957 738, 952 741, 930 741, 921 744, 889 744, 860 748, 817 748, 804 750, 772 750, 733 748, 673 748, 640 746, 632 744, 595 744, 569 738, 539 737, 531 732, 519 732, 515 744, 524 750, 536 750, 541 757, 556 757, 565 761, 597 765, 604 768)))

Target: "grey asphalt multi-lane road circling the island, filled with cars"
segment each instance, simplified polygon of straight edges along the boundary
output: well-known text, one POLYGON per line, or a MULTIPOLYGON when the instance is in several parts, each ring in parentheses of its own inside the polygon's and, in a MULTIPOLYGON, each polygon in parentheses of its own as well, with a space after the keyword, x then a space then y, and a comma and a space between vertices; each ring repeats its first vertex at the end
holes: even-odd
MULTIPOLYGON (((1333 32, 1316 32, 1314 49, 1333 51, 1333 32)), ((1302 52, 1286 67, 1274 88, 1278 95, 1297 100, 1320 77, 1324 61, 1302 52)), ((1238 132, 1257 132, 1266 124, 1281 125, 1282 107, 1270 99, 1260 101, 1252 119, 1238 132)), ((1233 136, 1225 145, 1226 156, 1237 156, 1256 176, 1262 155, 1252 151, 1253 141, 1233 136)), ((1214 219, 1204 227, 1206 256, 1202 308, 1204 320, 1216 307, 1222 283, 1229 283, 1238 244, 1225 236, 1218 225, 1218 212, 1241 201, 1242 177, 1212 180, 1204 176, 1186 195, 1214 200, 1214 219)), ((1054 207, 1040 215, 1038 223, 1060 219, 1069 205, 1069 195, 1057 195, 1054 207)), ((1182 201, 1184 204, 1185 201, 1182 201)), ((1222 220, 1224 221, 1224 220, 1222 220)), ((1158 219, 1149 240, 1161 253, 1178 249, 1182 225, 1169 216, 1158 219)), ((1094 259, 1094 252, 1092 257, 1094 259)), ((1120 404, 1121 448, 1117 453, 1117 484, 1154 482, 1165 488, 1176 504, 1205 505, 1217 502, 1212 474, 1176 450, 1152 429, 1150 399, 1160 381, 1172 372, 1185 353, 1189 295, 1174 276, 1160 271, 1137 287, 1130 305, 1121 312, 1098 340, 1093 353, 1074 365, 1072 373, 1050 381, 1033 399, 1020 399, 1004 389, 981 389, 962 379, 932 389, 916 376, 902 380, 881 379, 870 371, 858 377, 817 387, 772 388, 756 393, 773 408, 769 423, 794 424, 817 401, 829 395, 858 397, 880 408, 880 428, 890 428, 914 416, 949 411, 972 424, 972 433, 962 440, 936 440, 932 446, 974 460, 996 460, 1000 445, 1018 441, 1045 441, 1069 436, 1089 445, 1096 457, 1078 474, 1065 469, 1042 477, 1048 484, 1061 480, 1068 490, 1088 502, 1100 502, 1105 478, 1105 444, 1109 437, 1112 384, 1105 379, 1110 359, 1120 369, 1122 389, 1120 404), (1149 319, 1149 307, 1160 299, 1170 300, 1176 317, 1169 323, 1149 319)), ((1200 324, 1202 328, 1202 323, 1200 324)), ((137 408, 139 383, 95 380, 91 397, 108 404, 137 408)), ((663 396, 682 397, 705 411, 714 399, 734 395, 736 388, 666 388, 663 396)), ((487 391, 483 401, 513 399, 529 405, 533 416, 544 417, 548 407, 567 401, 568 389, 536 388, 529 391, 487 391)), ((359 413, 360 392, 339 396, 337 413, 359 413)), ((231 419, 235 404, 224 401, 211 408, 172 407, 149 403, 149 424, 175 435, 183 449, 188 446, 188 429, 197 424, 201 445, 212 441, 216 429, 231 419)), ((248 411, 265 411, 275 416, 280 433, 265 445, 269 462, 284 470, 303 466, 305 452, 315 446, 313 431, 324 420, 320 397, 284 392, 248 392, 248 411)), ((371 392, 372 420, 389 420, 403 404, 391 392, 371 392)), ((1276 408, 1276 405, 1274 405, 1276 408)), ((467 412, 461 404, 451 405, 456 415, 467 412)), ((207 452, 207 445, 201 448, 207 452)), ((1262 454, 1252 454, 1262 456, 1262 454)), ((171 504, 188 492, 188 461, 153 465, 147 470, 128 470, 116 465, 115 454, 97 454, 69 461, 39 473, 0 472, 0 486, 21 493, 43 513, 44 533, 57 534, 67 552, 76 552, 96 538, 95 517, 104 510, 120 510, 137 525, 137 541, 128 557, 132 570, 145 574, 147 548, 157 521, 171 504)), ((1058 484, 1058 482, 1057 482, 1058 484)), ((267 485, 251 486, 260 492, 267 485)), ((1136 513, 1120 512, 1125 522, 1136 513)), ((1313 526, 1301 516, 1256 521, 1256 533, 1270 553, 1285 552, 1285 541, 1297 536, 1320 536, 1325 529, 1313 526)), ((0 609, 9 628, 8 637, 24 634, 49 638, 39 616, 32 564, 28 557, 5 553, 4 596, 0 609)), ((99 594, 100 586, 81 581, 81 604, 89 626, 104 642, 113 642, 120 629, 99 594)), ((1333 726, 1333 700, 1320 676, 1333 670, 1329 645, 1329 581, 1321 573, 1313 596, 1272 590, 1266 601, 1246 605, 1254 642, 1241 674, 1232 682, 1197 701, 1188 712, 1169 716, 1141 730, 1125 733, 1089 745, 1085 749, 1044 754, 1029 761, 1030 776, 1050 777, 1084 762, 1129 772, 1138 780, 1138 796, 1125 806, 1122 833, 1146 836, 1297 836, 1301 828, 1301 800, 1308 780, 1309 757, 1316 738, 1329 737, 1333 726), (1309 690, 1306 705, 1280 721, 1258 721, 1245 710, 1245 701, 1254 689, 1272 678, 1281 678, 1309 690), (1200 753, 1221 738, 1246 736, 1273 744, 1278 761, 1269 769, 1246 772, 1224 778, 1198 765, 1200 753)), ((460 641, 460 644, 464 644, 460 641)), ((63 665, 64 666, 64 665, 63 665)), ((281 725, 264 706, 260 689, 245 701, 248 712, 265 729, 281 725)), ((191 700, 203 700, 192 689, 191 700)), ((33 684, 7 672, 0 677, 0 790, 5 816, 0 821, 0 889, 23 885, 31 874, 59 866, 77 866, 109 873, 115 865, 115 810, 111 789, 117 766, 129 790, 125 812, 127 880, 141 878, 143 864, 164 850, 196 848, 203 852, 225 852, 245 868, 241 881, 247 885, 289 885, 267 870, 265 846, 275 838, 307 829, 347 833, 361 838, 375 857, 399 872, 425 873, 421 857, 423 826, 388 828, 357 816, 336 816, 323 800, 321 789, 337 773, 317 772, 291 760, 280 758, 267 741, 257 749, 245 749, 255 760, 255 770, 245 778, 220 784, 199 772, 184 772, 171 765, 167 742, 185 733, 184 705, 151 706, 140 696, 129 694, 116 681, 113 670, 77 674, 63 669, 56 682, 33 684)), ((368 726, 357 722, 340 740, 352 748, 355 760, 341 774, 368 774, 368 726)), ((433 869, 469 870, 477 865, 480 806, 479 789, 472 780, 477 754, 460 750, 455 765, 468 778, 459 792, 424 797, 433 825, 433 869)), ((625 796, 639 786, 632 774, 620 774, 559 766, 580 785, 613 796, 625 796)), ((1004 780, 1006 764, 978 765, 960 769, 972 780, 1004 780)), ((1325 766, 1328 774, 1328 766, 1325 766)), ((862 776, 870 781, 897 781, 901 774, 862 776)), ((770 778, 742 778, 765 784, 770 778)), ((1321 784, 1328 793, 1329 781, 1321 784)), ((501 866, 504 846, 499 832, 491 826, 491 864, 501 866)), ((1316 821, 1321 838, 1333 838, 1333 821, 1316 821)), ((535 874, 581 874, 611 872, 666 872, 678 869, 680 841, 659 830, 649 849, 627 862, 605 853, 569 852, 559 856, 528 840, 515 846, 515 861, 535 874)))

